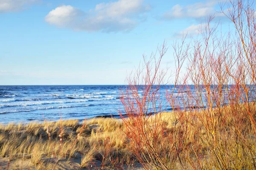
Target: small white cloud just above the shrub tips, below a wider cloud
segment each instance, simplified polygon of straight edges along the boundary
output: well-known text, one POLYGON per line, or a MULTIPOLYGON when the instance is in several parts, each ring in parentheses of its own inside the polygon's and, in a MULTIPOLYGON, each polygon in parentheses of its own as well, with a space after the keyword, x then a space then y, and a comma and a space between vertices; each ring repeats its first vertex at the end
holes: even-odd
POLYGON ((204 32, 206 24, 191 25, 188 28, 175 34, 176 38, 181 38, 183 35, 194 36, 204 32))

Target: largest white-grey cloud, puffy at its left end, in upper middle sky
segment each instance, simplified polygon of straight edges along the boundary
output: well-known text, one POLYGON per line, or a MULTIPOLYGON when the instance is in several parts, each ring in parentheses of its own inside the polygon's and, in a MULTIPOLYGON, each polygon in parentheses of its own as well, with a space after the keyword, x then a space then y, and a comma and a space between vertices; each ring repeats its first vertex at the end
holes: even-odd
POLYGON ((59 6, 47 14, 47 23, 77 31, 130 31, 144 19, 150 6, 143 0, 118 0, 100 3, 90 11, 73 6, 59 6))

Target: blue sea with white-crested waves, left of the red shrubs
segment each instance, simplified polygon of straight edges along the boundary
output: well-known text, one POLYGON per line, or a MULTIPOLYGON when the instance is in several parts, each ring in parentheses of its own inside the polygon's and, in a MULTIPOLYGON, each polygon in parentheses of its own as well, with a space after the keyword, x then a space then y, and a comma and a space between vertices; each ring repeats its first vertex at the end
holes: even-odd
POLYGON ((121 85, 0 86, 0 123, 118 115, 121 85))

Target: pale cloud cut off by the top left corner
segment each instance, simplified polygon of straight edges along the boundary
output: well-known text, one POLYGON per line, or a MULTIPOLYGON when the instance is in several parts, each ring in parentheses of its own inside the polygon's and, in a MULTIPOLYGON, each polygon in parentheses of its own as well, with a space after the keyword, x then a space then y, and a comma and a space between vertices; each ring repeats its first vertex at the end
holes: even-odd
POLYGON ((37 0, 0 0, 0 13, 20 11, 36 1, 37 0))

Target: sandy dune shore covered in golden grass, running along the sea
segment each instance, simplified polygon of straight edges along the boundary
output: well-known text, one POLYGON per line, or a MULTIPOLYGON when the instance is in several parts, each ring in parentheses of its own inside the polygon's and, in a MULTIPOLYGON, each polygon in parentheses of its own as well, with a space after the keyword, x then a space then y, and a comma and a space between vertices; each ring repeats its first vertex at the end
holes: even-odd
MULTIPOLYGON (((255 103, 252 103, 251 106, 255 108, 255 103)), ((237 150, 244 152, 240 149, 248 144, 255 144, 250 124, 244 122, 246 117, 236 116, 236 113, 243 113, 244 109, 243 105, 237 105, 234 108, 231 106, 221 108, 224 114, 221 114, 222 117, 219 118, 219 123, 224 124, 219 127, 220 136, 217 137, 220 141, 227 139, 227 144, 230 146, 229 152, 232 154, 235 154, 237 150), (243 129, 243 134, 236 132, 237 128, 234 128, 237 121, 242 122, 240 126, 243 129), (229 133, 226 133, 227 129, 235 131, 231 131, 232 133, 229 135, 229 133), (243 142, 236 146, 235 141, 238 139, 243 142), (240 144, 244 144, 244 142, 246 142, 245 145, 240 148, 240 144)), ((213 109, 212 111, 218 113, 219 110, 213 109)), ((207 127, 204 124, 207 121, 207 115, 205 114, 208 114, 208 112, 196 109, 172 113, 174 112, 161 112, 161 114, 146 116, 146 121, 143 118, 144 116, 134 116, 128 117, 128 119, 90 118, 85 119, 85 122, 84 119, 60 119, 41 123, 1 124, 0 167, 6 169, 8 167, 9 169, 22 167, 22 169, 31 170, 52 169, 52 167, 64 170, 89 168, 141 170, 143 167, 140 164, 140 157, 138 157, 140 154, 134 155, 134 152, 136 153, 138 149, 137 144, 134 146, 133 140, 137 139, 140 144, 143 144, 143 140, 138 139, 143 134, 140 130, 140 125, 143 125, 142 128, 145 128, 145 132, 148 133, 145 136, 146 139, 157 142, 154 149, 160 155, 165 154, 163 151, 166 151, 167 154, 174 153, 171 162, 167 162, 172 168, 182 169, 182 164, 180 164, 175 154, 177 150, 171 140, 174 135, 179 137, 177 140, 180 140, 180 145, 184 147, 183 150, 179 151, 180 156, 182 156, 180 159, 182 159, 183 164, 186 163, 188 169, 192 168, 189 162, 197 164, 198 161, 204 161, 206 167, 209 165, 209 168, 214 168, 215 160, 209 159, 214 154, 212 153, 212 146, 214 145, 209 145, 209 142, 214 143, 214 141, 212 141, 212 133, 207 132, 207 127), (151 128, 155 129, 150 131, 151 128), (188 129, 190 130, 186 132, 188 129), (129 136, 133 134, 134 137, 129 136), (153 134, 157 136, 151 139, 149 136, 153 134), (198 136, 198 138, 195 138, 195 136, 198 136), (197 149, 196 152, 194 145, 197 149), (198 158, 199 160, 195 159, 198 153, 202 154, 198 158), (187 162, 188 159, 189 162, 187 162)), ((244 114, 239 115, 246 116, 244 114)), ((210 113, 208 116, 210 116, 210 113)), ((226 153, 225 148, 226 146, 221 148, 224 151, 223 154, 226 153)), ((143 150, 143 148, 141 149, 143 150)), ((248 152, 249 149, 253 150, 251 147, 247 149, 248 152)), ((247 153, 243 153, 243 156, 250 157, 247 153)), ((248 161, 249 157, 244 157, 242 161, 248 161)))

